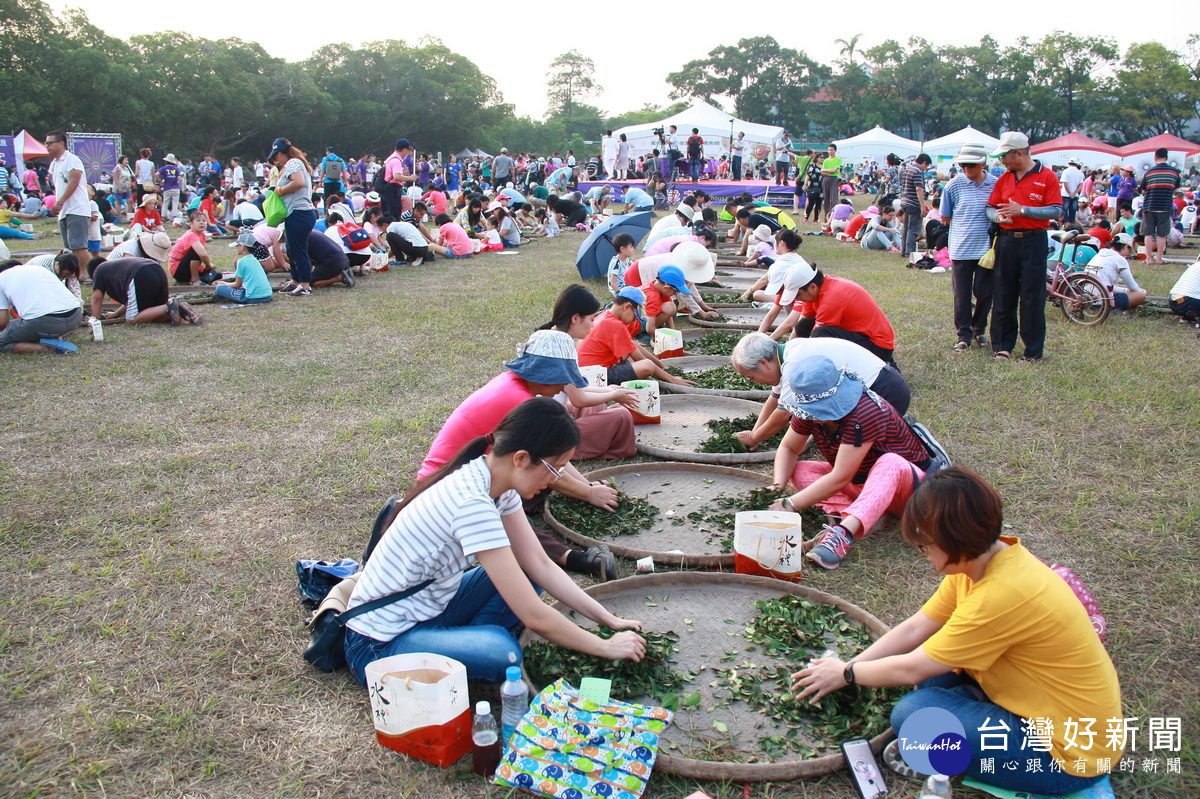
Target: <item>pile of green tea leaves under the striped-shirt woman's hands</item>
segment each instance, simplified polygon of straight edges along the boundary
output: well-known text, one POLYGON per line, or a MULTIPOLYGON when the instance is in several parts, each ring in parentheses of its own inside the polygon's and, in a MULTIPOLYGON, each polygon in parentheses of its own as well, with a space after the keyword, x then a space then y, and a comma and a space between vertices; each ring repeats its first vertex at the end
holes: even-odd
MULTIPOLYGON (((604 626, 595 630, 601 638, 611 638, 614 632, 604 626)), ((612 680, 611 696, 614 699, 632 701, 654 696, 665 699, 666 705, 674 704, 678 708, 678 695, 674 695, 673 699, 670 695, 695 677, 671 668, 671 661, 678 650, 676 644, 679 642, 679 636, 670 631, 642 631, 638 635, 646 638, 646 656, 637 663, 631 660, 584 655, 574 649, 539 641, 526 647, 524 667, 539 689, 550 685, 559 677, 575 686, 578 686, 581 678, 598 677, 612 680)))

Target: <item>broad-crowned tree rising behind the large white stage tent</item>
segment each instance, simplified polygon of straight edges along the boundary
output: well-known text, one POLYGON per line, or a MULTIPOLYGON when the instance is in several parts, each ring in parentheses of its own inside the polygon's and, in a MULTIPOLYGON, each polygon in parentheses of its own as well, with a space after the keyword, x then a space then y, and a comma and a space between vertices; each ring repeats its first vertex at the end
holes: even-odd
POLYGON ((829 70, 804 53, 780 47, 770 36, 743 38, 716 47, 708 58, 689 61, 667 76, 672 98, 733 101, 742 119, 782 125, 798 134, 809 131, 805 102, 829 77, 829 70))

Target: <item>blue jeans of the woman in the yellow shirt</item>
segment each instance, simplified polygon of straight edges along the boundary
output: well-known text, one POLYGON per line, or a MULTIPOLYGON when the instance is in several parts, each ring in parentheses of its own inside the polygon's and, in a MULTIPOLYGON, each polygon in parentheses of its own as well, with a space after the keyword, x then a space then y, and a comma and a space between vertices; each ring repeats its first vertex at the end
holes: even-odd
MULTIPOLYGON (((964 773, 966 776, 1009 791, 1049 794, 1074 793, 1104 779, 1104 775, 1082 777, 1058 770, 1051 771, 1054 756, 1050 752, 1021 749, 1025 738, 1021 733, 1025 725, 1021 717, 989 702, 979 685, 962 674, 952 672, 928 679, 918 685, 916 691, 901 698, 892 708, 892 728, 899 734, 905 720, 923 708, 948 710, 962 722, 967 743, 971 744, 971 751, 974 752, 971 767, 964 773), (984 733, 979 732, 979 727, 995 728, 1000 726, 1001 721, 1008 725, 1010 731, 1003 734, 1003 738, 1007 739, 1007 747, 1004 750, 997 749, 997 739, 992 738, 991 735, 995 733, 991 733, 988 739, 988 750, 984 751, 984 733), (995 768, 991 773, 982 773, 980 757, 994 759, 995 768), (1040 770, 1031 771, 1028 761, 1038 761, 1040 770), (1019 765, 1014 770, 1008 770, 1003 768, 1006 762, 1016 762, 1019 765)), ((1114 763, 1114 765, 1116 764, 1114 763)))

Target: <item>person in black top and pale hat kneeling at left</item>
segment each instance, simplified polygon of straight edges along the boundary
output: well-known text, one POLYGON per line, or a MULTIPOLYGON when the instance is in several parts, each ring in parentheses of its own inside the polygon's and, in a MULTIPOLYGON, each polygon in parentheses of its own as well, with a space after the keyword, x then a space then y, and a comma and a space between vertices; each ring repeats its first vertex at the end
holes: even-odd
POLYGON ((167 293, 167 274, 162 265, 149 258, 118 258, 88 264, 91 275, 91 316, 96 319, 119 319, 125 324, 143 325, 166 322, 178 325, 180 320, 200 324, 200 314, 187 302, 180 302, 167 293), (115 311, 103 313, 104 295, 118 304, 115 311))

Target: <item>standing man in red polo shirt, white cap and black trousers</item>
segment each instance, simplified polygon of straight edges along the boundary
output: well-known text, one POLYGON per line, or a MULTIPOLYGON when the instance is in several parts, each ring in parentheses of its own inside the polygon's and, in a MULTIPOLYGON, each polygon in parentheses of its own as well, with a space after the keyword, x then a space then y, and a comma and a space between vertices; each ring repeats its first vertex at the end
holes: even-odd
POLYGON ((1062 190, 1054 170, 1030 157, 1024 133, 1004 133, 991 155, 1008 170, 988 198, 988 218, 1000 226, 991 348, 996 360, 1010 360, 1020 331, 1021 361, 1037 364, 1046 340, 1046 228, 1062 218, 1062 190))

